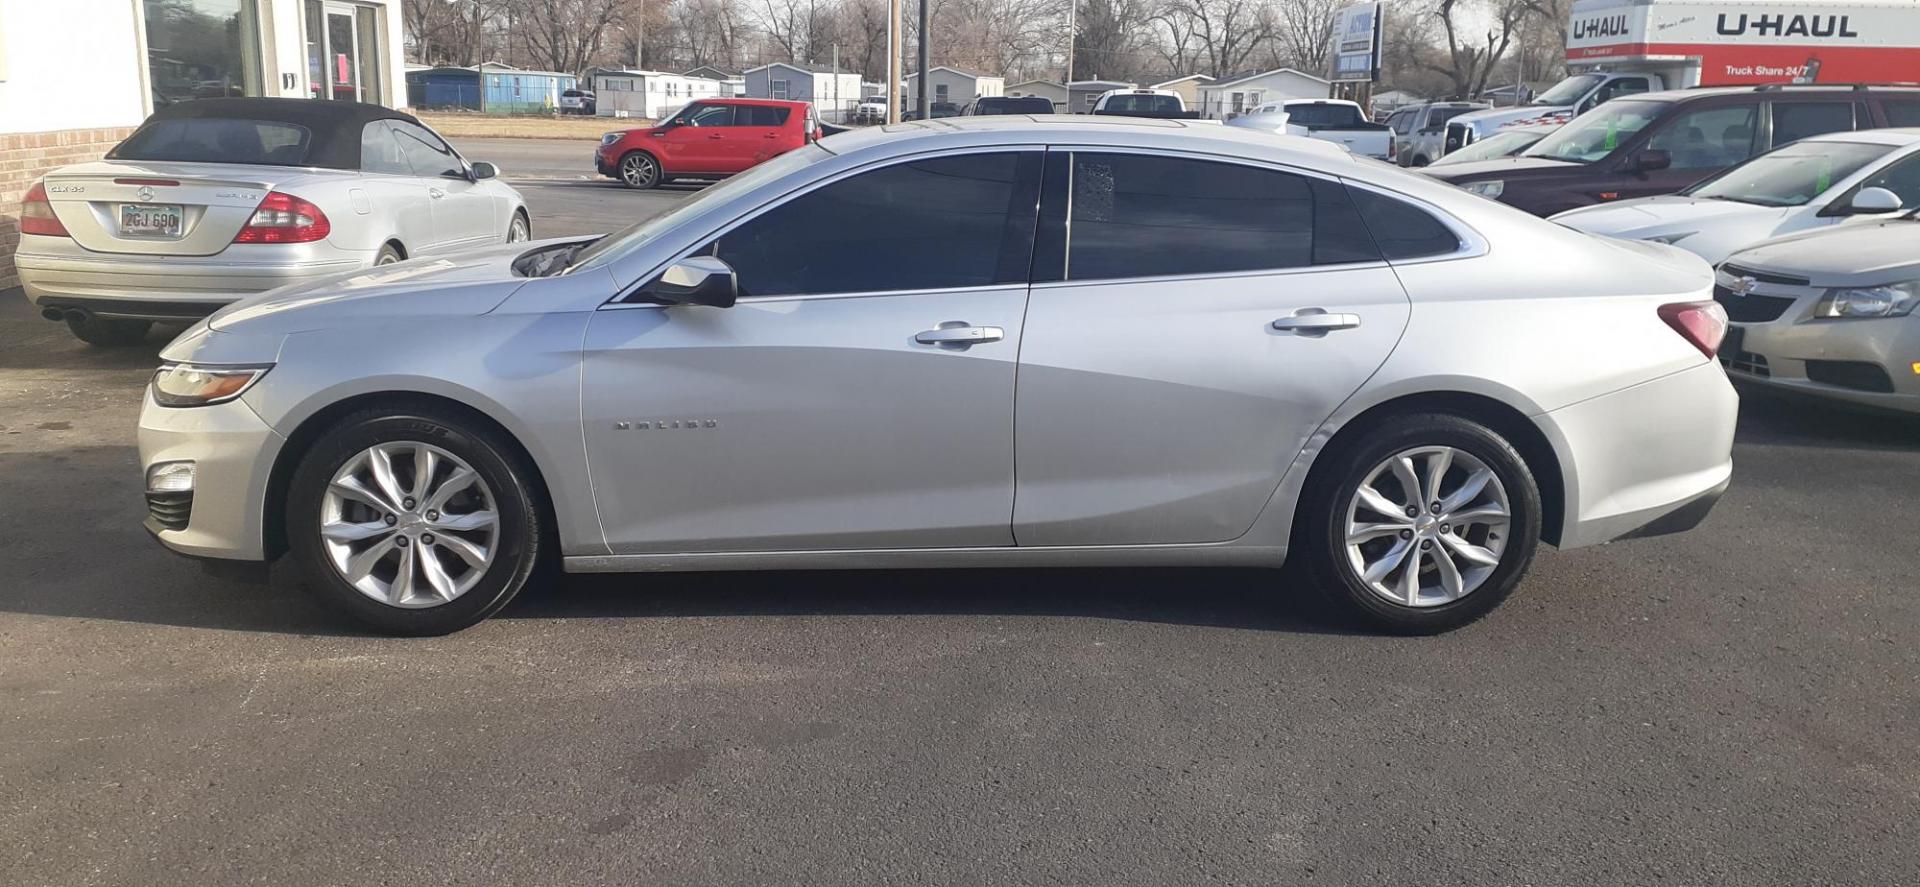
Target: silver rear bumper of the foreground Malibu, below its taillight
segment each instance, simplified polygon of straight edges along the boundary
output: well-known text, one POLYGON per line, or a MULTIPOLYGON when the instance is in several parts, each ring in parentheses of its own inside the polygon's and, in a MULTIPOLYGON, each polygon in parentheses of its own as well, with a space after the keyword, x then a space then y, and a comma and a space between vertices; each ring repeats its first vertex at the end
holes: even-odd
POLYGON ((1740 396, 1715 363, 1538 417, 1563 459, 1559 547, 1699 524, 1734 474, 1738 417, 1740 396))

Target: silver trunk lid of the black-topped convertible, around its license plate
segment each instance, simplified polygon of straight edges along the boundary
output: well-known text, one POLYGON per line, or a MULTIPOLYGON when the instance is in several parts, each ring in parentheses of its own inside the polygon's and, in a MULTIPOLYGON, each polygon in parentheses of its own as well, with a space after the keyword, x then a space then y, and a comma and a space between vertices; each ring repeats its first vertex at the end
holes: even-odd
POLYGON ((296 167, 102 159, 63 167, 44 184, 54 215, 86 250, 215 255, 232 244, 269 190, 311 175, 296 167), (169 230, 175 209, 177 230, 169 230), (129 215, 148 228, 123 230, 129 215))

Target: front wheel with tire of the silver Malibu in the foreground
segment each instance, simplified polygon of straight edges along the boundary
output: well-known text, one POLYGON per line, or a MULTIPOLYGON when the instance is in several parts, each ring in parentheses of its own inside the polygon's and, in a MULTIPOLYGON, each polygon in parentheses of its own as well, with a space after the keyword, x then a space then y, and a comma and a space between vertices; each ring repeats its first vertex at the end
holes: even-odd
POLYGON ((288 543, 321 601, 386 634, 472 626, 541 553, 532 470, 497 432, 440 409, 349 415, 288 488, 288 543))

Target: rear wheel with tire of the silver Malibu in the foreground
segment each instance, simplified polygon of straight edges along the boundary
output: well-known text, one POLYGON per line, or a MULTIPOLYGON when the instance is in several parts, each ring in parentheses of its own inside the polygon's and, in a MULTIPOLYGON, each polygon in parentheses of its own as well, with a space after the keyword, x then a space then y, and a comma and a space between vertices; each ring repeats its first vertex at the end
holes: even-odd
POLYGON ((1540 543, 1540 490, 1494 430, 1440 413, 1396 417, 1329 459, 1292 557, 1371 628, 1450 632, 1521 584, 1540 543))

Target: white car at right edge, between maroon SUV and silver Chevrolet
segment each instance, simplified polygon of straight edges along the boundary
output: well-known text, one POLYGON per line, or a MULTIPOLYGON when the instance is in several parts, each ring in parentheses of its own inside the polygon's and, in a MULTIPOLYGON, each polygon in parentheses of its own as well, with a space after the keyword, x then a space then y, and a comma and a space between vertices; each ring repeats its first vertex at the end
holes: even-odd
POLYGON ((1920 129, 1862 129, 1774 148, 1680 194, 1569 209, 1553 221, 1720 263, 1761 240, 1914 205, 1920 129))

